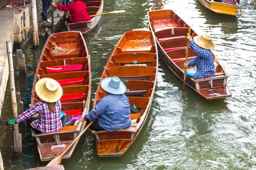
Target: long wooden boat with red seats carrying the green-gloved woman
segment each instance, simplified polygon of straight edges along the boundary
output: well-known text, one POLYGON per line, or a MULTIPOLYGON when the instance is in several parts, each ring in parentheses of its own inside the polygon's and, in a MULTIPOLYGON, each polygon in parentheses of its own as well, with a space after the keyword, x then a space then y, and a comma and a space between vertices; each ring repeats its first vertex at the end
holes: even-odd
MULTIPOLYGON (((41 53, 32 89, 31 105, 40 99, 35 93, 36 82, 44 77, 57 80, 64 95, 61 97, 61 111, 68 115, 86 115, 90 106, 91 89, 90 55, 84 37, 79 31, 67 31, 51 34, 44 45, 41 53), (54 53, 56 46, 67 48, 67 52, 54 53), (72 50, 73 49, 73 50, 72 50), (87 108, 85 112, 84 108, 87 108)), ((36 134, 32 130, 32 137, 35 137, 41 161, 48 161, 59 156, 65 148, 84 129, 84 122, 78 125, 62 127, 61 131, 52 133, 36 134), (61 144, 66 147, 58 147, 61 144), (52 149, 52 146, 55 147, 52 149)), ((64 155, 63 159, 70 158, 76 144, 64 155)))

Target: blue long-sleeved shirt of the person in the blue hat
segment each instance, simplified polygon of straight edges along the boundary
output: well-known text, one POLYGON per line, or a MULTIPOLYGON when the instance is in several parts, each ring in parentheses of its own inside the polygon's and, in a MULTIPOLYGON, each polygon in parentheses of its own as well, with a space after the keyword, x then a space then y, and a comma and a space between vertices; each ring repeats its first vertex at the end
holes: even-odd
POLYGON ((108 94, 86 115, 89 121, 98 118, 99 125, 110 132, 131 126, 130 102, 124 94, 108 94))

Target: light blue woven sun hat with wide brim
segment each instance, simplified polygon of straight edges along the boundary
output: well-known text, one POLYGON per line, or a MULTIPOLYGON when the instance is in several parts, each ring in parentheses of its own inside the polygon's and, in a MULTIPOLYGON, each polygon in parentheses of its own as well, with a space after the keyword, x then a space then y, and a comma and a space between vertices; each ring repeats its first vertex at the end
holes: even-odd
POLYGON ((125 83, 118 77, 106 77, 102 80, 101 86, 111 94, 124 94, 126 91, 125 83))

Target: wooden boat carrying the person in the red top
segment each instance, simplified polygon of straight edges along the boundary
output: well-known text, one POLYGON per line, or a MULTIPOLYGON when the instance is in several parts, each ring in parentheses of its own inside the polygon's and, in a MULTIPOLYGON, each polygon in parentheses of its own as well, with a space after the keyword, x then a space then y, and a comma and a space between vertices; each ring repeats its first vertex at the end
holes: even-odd
MULTIPOLYGON (((87 12, 89 15, 102 14, 103 11, 103 0, 81 0, 87 6, 87 12)), ((71 12, 67 12, 69 17, 71 12)), ((72 15, 72 14, 71 14, 72 15)), ((67 23, 66 26, 68 31, 81 31, 82 34, 87 34, 90 32, 99 22, 101 15, 92 17, 90 21, 80 22, 80 23, 67 23)))

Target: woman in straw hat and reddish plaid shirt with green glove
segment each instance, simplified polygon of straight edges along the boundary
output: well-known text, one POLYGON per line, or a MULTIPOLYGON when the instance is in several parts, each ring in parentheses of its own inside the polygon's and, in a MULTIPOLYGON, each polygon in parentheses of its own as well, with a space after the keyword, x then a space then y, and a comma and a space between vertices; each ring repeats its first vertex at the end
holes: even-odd
POLYGON ((54 79, 43 78, 36 83, 35 92, 41 100, 15 119, 9 119, 7 125, 26 120, 27 125, 34 129, 35 133, 61 130, 61 85, 54 79), (34 117, 36 114, 39 114, 39 118, 34 117))

